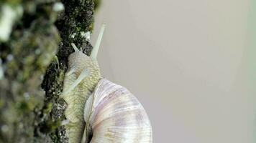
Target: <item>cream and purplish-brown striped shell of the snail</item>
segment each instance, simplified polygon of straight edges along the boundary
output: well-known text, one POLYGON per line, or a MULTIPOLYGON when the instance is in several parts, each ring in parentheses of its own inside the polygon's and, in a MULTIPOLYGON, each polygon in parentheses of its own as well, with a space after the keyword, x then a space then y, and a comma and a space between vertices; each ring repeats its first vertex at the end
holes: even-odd
POLYGON ((100 79, 84 109, 86 143, 150 143, 152 128, 142 104, 126 88, 100 79))

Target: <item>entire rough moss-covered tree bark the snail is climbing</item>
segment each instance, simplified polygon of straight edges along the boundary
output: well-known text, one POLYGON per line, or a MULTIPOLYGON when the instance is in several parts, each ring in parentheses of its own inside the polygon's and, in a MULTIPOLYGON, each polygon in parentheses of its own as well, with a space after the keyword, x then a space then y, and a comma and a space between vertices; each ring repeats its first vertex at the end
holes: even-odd
POLYGON ((83 34, 93 28, 93 0, 8 0, 0 10, 4 4, 22 6, 23 14, 0 41, 0 143, 68 142, 58 97, 70 44, 91 53, 83 34), (56 2, 65 10, 56 11, 56 2))

